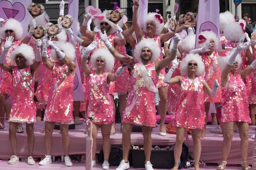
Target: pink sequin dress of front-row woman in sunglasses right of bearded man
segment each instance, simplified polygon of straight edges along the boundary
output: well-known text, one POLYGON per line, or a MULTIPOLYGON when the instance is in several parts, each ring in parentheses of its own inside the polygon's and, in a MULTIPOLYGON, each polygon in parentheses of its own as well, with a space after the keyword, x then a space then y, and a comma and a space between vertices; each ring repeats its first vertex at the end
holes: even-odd
POLYGON ((183 76, 180 97, 176 104, 177 111, 172 117, 173 127, 204 128, 204 82, 204 77, 191 80, 183 76))

